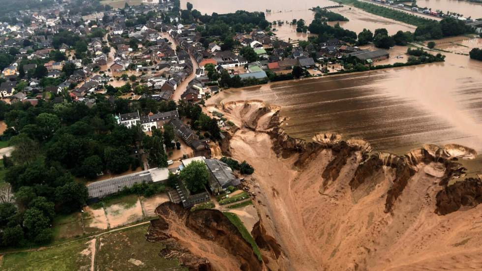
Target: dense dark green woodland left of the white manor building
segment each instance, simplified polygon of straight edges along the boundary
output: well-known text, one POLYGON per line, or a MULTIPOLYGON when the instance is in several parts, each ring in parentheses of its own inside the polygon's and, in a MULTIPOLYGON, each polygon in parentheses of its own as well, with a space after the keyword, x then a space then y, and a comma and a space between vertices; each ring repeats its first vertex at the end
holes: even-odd
MULTIPOLYGON (((166 106, 166 102, 151 104, 154 108, 166 106)), ((86 204, 87 188, 74 177, 94 179, 105 170, 121 173, 130 167, 135 169, 140 162, 130 153, 141 146, 149 149, 153 163, 166 165, 160 139, 163 135, 154 132, 150 139, 156 144, 152 144, 149 139, 143 140, 147 136, 140 127, 129 129, 115 123, 115 113, 134 108, 125 100, 112 104, 103 99, 92 108, 72 102, 39 101, 35 107, 30 103, 0 103, 0 119, 8 125, 10 144, 15 147, 8 163, 4 163, 4 179, 10 183, 19 206, 0 206, 2 245, 48 242, 55 213, 79 211, 86 204), (153 145, 161 147, 150 149, 153 145)))

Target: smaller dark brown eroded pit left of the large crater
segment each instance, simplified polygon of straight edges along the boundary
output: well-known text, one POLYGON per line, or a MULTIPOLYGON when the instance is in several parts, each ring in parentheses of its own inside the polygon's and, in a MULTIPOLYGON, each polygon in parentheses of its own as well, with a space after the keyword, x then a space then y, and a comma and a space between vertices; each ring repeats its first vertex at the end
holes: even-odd
POLYGON ((159 205, 147 239, 161 241, 160 256, 179 259, 189 270, 262 270, 251 245, 220 211, 190 212, 171 202, 159 205))

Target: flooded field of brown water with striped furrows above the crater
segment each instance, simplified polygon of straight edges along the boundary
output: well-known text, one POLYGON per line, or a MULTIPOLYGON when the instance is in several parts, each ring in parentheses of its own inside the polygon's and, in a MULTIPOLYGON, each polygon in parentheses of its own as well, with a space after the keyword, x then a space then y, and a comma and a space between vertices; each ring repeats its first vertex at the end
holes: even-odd
POLYGON ((281 106, 283 128, 309 140, 334 132, 375 150, 404 153, 426 143, 482 151, 482 62, 447 62, 227 90, 208 103, 259 99, 281 106))

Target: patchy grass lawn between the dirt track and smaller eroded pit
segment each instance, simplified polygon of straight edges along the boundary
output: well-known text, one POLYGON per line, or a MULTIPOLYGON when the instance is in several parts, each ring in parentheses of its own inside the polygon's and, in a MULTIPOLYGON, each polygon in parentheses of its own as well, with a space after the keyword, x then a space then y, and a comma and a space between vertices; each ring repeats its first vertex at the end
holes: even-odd
POLYGON ((178 261, 160 257, 161 243, 146 241, 148 225, 106 234, 99 238, 95 270, 187 271, 178 261))

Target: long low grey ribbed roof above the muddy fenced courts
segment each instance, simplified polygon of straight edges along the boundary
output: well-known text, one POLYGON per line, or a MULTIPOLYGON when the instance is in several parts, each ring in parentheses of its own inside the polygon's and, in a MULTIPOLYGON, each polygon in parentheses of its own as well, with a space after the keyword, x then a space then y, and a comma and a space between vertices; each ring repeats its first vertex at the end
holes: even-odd
POLYGON ((89 198, 103 198, 108 195, 120 192, 124 187, 132 187, 135 183, 151 182, 152 177, 149 171, 142 171, 112 178, 105 181, 96 181, 87 185, 89 198))

